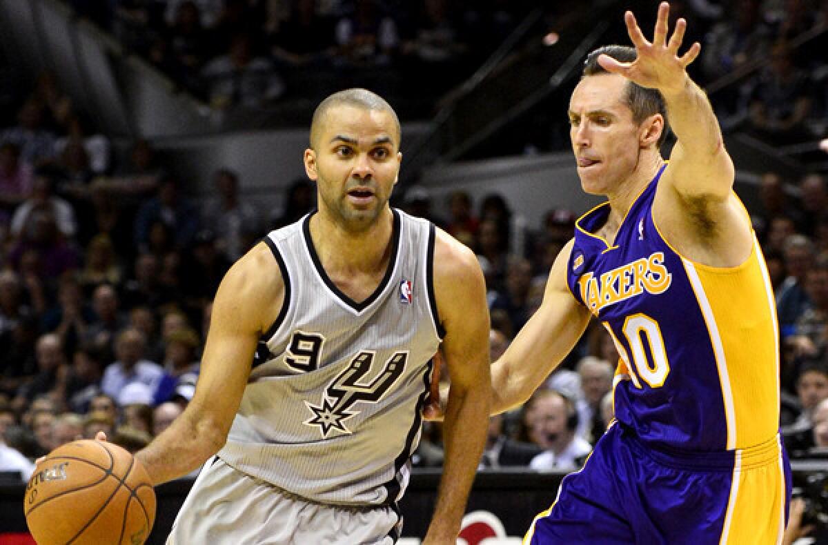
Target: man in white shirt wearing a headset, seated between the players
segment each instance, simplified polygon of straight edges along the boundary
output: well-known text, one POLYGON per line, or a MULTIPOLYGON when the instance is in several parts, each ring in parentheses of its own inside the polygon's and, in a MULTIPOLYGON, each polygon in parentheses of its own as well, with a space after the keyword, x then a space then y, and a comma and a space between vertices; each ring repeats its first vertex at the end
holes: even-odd
POLYGON ((570 471, 583 465, 592 451, 590 443, 575 434, 578 412, 575 401, 555 390, 537 394, 538 444, 545 451, 532 458, 529 467, 536 471, 570 471))

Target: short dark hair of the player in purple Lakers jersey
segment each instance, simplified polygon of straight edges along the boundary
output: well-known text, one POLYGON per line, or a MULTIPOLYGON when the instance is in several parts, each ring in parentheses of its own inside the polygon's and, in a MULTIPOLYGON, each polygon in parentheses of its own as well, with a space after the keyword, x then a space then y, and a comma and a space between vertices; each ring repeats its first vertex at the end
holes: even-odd
MULTIPOLYGON (((619 62, 633 62, 638 58, 638 53, 635 48, 628 46, 602 46, 586 55, 584 61, 584 70, 581 73, 580 79, 590 75, 609 74, 604 67, 598 64, 598 55, 609 55, 619 62)), ((664 118, 664 128, 662 134, 658 137, 658 146, 664 143, 667 135, 670 133, 670 124, 667 123, 667 103, 664 101, 664 95, 658 89, 647 89, 633 81, 627 80, 627 94, 624 96, 624 104, 627 104, 630 110, 633 111, 633 121, 640 125, 644 119, 650 117, 654 113, 661 113, 664 118)))

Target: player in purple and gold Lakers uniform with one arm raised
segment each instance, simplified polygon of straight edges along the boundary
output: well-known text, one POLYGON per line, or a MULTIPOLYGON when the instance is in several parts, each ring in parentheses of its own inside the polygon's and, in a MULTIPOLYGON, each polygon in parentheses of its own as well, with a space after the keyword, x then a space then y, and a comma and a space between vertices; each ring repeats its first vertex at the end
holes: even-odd
POLYGON ((495 411, 525 401, 591 316, 621 354, 617 422, 525 543, 778 543, 790 493, 773 293, 734 166, 658 7, 652 42, 589 55, 569 104, 587 212, 540 310, 493 366, 495 411), (677 142, 659 146, 667 121, 677 142))

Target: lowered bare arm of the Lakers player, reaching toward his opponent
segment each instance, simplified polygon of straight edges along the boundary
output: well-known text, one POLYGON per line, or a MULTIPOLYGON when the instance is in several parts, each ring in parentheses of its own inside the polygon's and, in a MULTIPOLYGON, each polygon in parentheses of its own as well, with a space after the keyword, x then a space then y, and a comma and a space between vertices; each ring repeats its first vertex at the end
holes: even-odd
POLYGON ((566 285, 573 244, 570 240, 555 259, 540 308, 492 365, 493 413, 525 402, 570 353, 590 323, 589 311, 566 285))

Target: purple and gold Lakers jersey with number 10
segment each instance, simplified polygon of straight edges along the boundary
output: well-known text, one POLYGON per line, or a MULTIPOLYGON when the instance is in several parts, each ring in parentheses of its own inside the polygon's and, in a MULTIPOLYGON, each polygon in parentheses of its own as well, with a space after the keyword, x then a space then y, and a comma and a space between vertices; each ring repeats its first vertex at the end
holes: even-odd
POLYGON ((615 417, 645 443, 691 451, 745 448, 776 435, 778 332, 755 236, 738 267, 682 257, 652 220, 659 171, 614 244, 594 233, 609 204, 582 216, 567 281, 619 350, 615 417))

